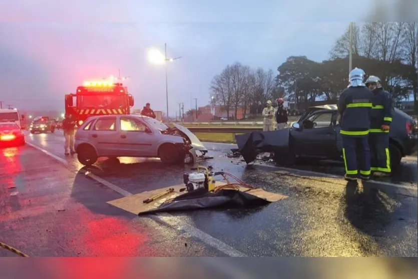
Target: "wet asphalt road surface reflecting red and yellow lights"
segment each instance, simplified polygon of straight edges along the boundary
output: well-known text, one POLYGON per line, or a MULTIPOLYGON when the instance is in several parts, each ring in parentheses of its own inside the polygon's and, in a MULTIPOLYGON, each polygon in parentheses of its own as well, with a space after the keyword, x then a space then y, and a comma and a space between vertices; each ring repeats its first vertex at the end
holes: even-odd
MULTIPOLYGON (((225 156, 232 145, 205 144, 214 159, 203 164, 288 198, 255 209, 171 213, 160 222, 107 204, 123 196, 64 156, 61 131, 28 135, 27 142, 68 162, 31 146, 0 150, 0 241, 33 256, 417 256, 413 158, 384 183, 357 186, 338 177, 341 163, 247 166, 225 156)), ((189 169, 120 158, 90 171, 136 194, 181 184, 189 169)))

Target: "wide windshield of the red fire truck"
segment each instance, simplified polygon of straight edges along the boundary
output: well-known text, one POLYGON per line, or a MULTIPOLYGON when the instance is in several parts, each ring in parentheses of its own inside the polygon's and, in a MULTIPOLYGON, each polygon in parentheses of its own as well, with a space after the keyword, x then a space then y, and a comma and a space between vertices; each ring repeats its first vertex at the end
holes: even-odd
POLYGON ((79 108, 123 108, 125 104, 124 95, 79 95, 77 96, 79 108))

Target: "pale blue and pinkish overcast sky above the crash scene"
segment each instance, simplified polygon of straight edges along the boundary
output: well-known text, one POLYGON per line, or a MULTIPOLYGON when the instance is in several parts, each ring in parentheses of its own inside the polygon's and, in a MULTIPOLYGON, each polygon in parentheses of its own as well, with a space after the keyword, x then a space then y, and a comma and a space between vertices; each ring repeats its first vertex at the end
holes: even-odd
MULTIPOLYGON (((164 51, 167 43, 168 57, 182 56, 168 70, 169 109, 174 115, 179 102, 185 110, 191 98, 198 98, 199 106, 207 104, 209 83, 227 64, 240 62, 276 73, 288 56, 327 59, 352 20, 348 14, 361 19, 368 12, 358 13, 350 5, 345 16, 338 16, 335 11, 341 7, 331 0, 260 3, 0 3, 0 100, 24 109, 63 110, 64 94, 75 92, 84 80, 118 75, 121 69, 122 76, 131 77, 125 84, 135 107, 150 102, 154 110, 165 111, 164 67, 150 64, 146 54, 150 48, 164 51), (266 21, 270 23, 260 23, 266 21)), ((351 3, 365 5, 361 0, 351 3)))

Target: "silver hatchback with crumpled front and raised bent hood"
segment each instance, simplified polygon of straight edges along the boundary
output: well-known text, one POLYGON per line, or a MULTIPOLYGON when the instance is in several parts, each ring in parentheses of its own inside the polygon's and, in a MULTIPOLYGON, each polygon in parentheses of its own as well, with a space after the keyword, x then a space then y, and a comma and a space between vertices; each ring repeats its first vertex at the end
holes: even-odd
POLYGON ((80 163, 93 165, 99 157, 158 157, 163 163, 184 163, 187 155, 207 149, 186 127, 146 116, 102 115, 88 118, 75 136, 80 163), (171 126, 170 125, 170 126, 171 126))

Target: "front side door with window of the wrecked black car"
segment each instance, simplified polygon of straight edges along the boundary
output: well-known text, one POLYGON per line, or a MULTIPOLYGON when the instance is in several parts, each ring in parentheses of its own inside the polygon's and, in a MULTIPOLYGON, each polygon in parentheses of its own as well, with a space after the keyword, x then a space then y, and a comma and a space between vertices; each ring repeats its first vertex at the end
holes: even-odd
POLYGON ((299 123, 299 129, 291 130, 296 155, 302 157, 331 158, 337 153, 335 111, 321 110, 312 113, 299 123))

